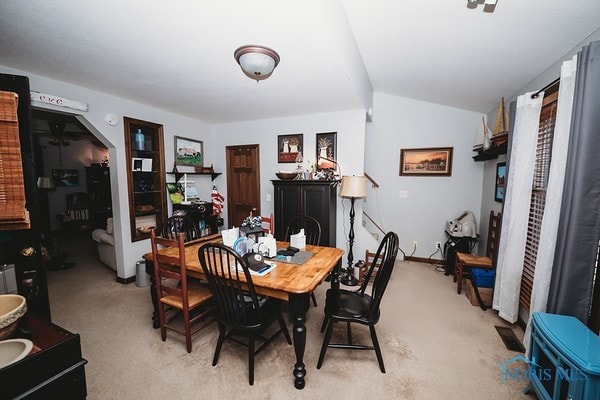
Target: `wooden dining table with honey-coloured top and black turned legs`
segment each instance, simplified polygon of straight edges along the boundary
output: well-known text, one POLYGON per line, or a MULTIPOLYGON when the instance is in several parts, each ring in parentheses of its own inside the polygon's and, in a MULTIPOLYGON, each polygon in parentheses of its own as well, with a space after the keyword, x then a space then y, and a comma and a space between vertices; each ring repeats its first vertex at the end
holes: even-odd
MULTIPOLYGON (((198 259, 198 249, 208 242, 221 242, 221 235, 210 235, 186 243, 185 259, 188 275, 194 278, 204 278, 202 266, 198 259)), ((287 248, 289 243, 277 242, 277 248, 287 248)), ((160 252, 176 252, 177 249, 169 248, 160 252)), ((306 312, 310 307, 310 294, 328 276, 331 277, 332 288, 339 288, 339 266, 344 251, 335 247, 310 246, 305 251, 313 253, 303 264, 291 264, 273 258, 277 266, 264 276, 252 276, 256 292, 262 295, 275 297, 289 302, 289 310, 294 323, 293 340, 296 362, 293 376, 296 389, 304 388, 306 368, 303 362, 306 346, 306 312)), ((154 282, 154 267, 152 253, 144 255, 146 271, 150 274, 150 296, 154 306, 154 328, 158 328, 158 309, 156 298, 156 285, 154 282)))

